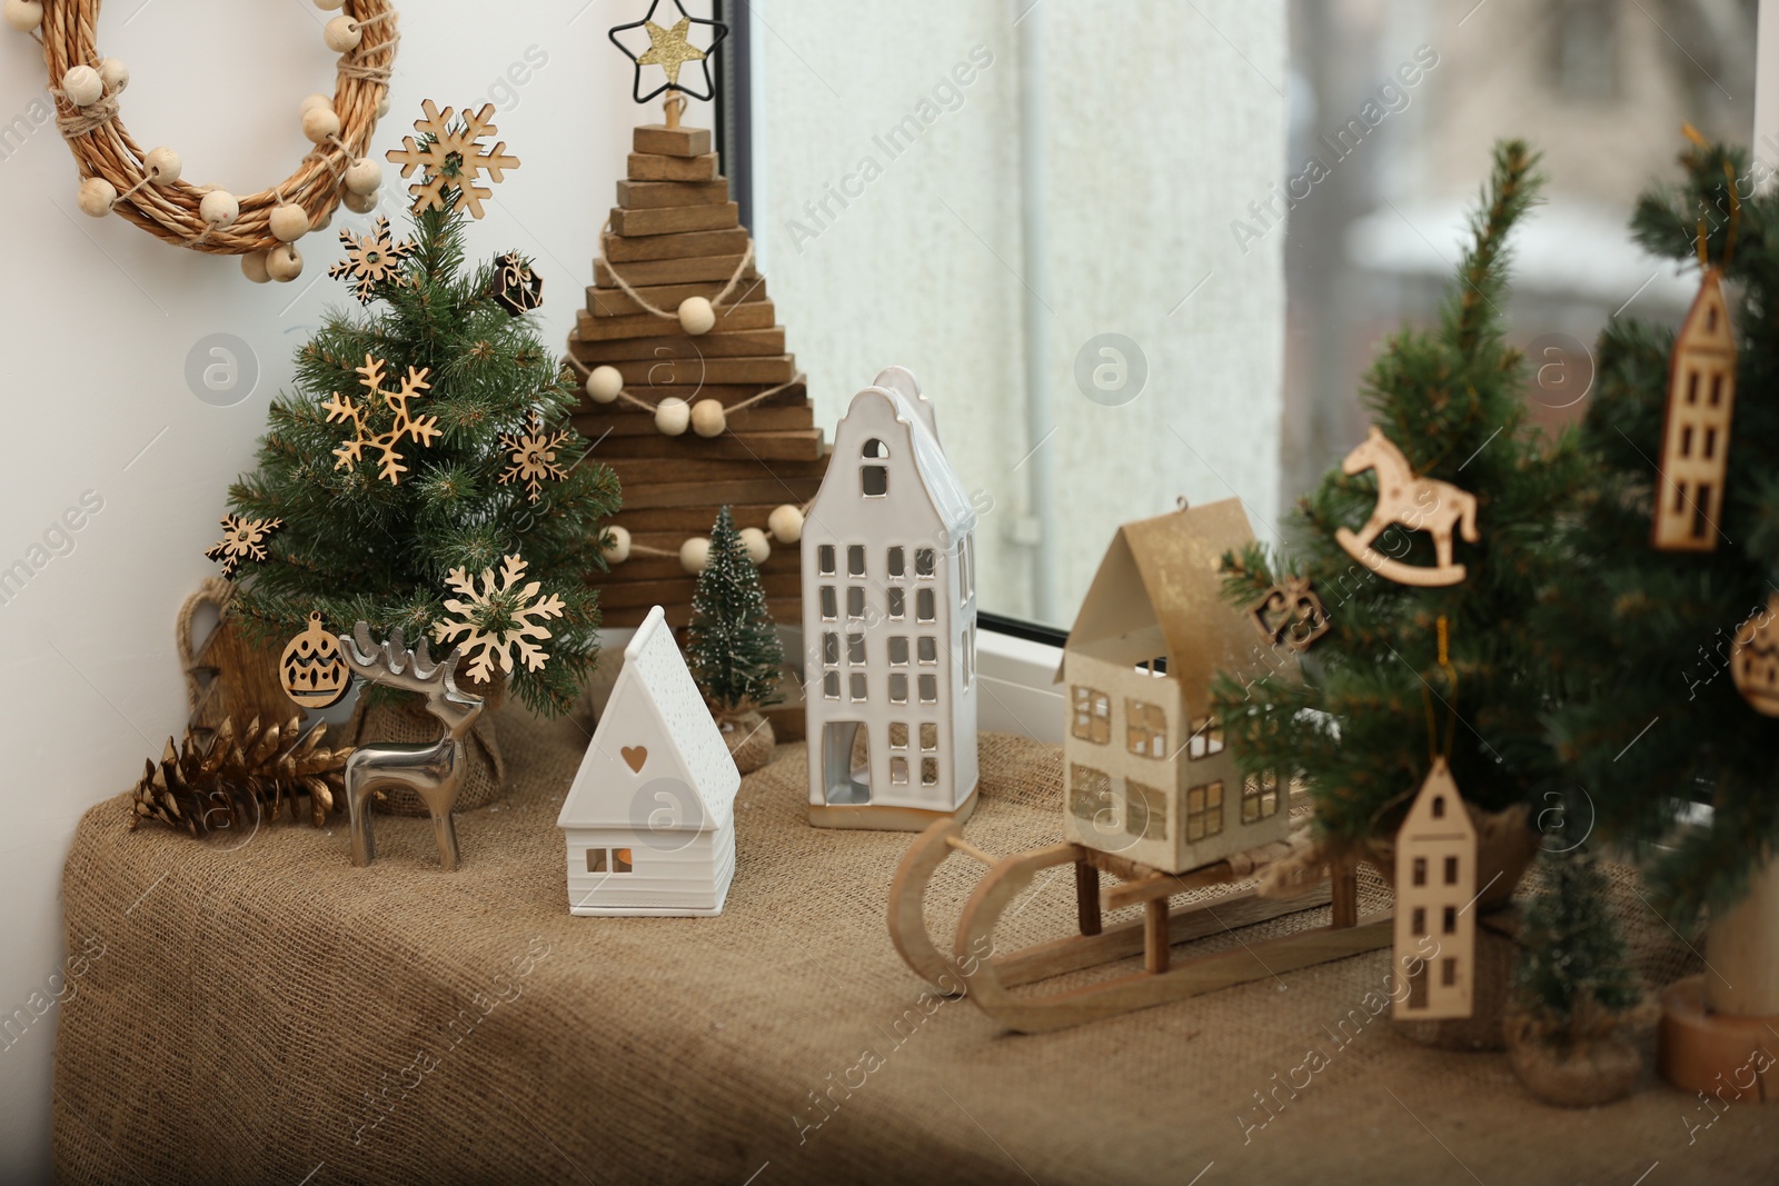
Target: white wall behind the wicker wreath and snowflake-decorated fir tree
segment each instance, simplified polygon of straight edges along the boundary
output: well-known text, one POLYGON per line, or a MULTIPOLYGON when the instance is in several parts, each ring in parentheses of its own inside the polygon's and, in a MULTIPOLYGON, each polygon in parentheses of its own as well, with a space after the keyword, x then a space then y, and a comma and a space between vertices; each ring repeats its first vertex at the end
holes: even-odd
MULTIPOLYGON (((628 126, 640 123, 628 98, 630 64, 605 30, 637 20, 640 7, 398 7, 407 16, 377 146, 400 142, 423 98, 498 103, 500 137, 523 165, 495 187, 471 249, 537 258, 544 338, 560 350, 591 283, 628 126), (509 71, 523 85, 512 85, 509 71)), ((308 149, 297 101, 333 84, 322 23, 304 0, 112 0, 100 50, 132 69, 125 123, 144 146, 176 148, 190 180, 251 192, 288 176, 308 149)), ((324 309, 349 301, 326 277, 338 258, 333 233, 301 244, 299 281, 262 288, 242 279, 233 260, 164 245, 121 219, 82 215, 73 156, 53 121, 41 123, 48 108, 34 110, 44 103, 43 87, 37 44, 0 28, 0 569, 46 560, 0 605, 0 1015, 28 1015, 30 996, 48 994, 60 971, 60 866, 80 814, 128 789, 142 759, 158 756, 162 740, 183 725, 174 613, 215 571, 201 551, 215 539, 228 482, 251 464, 292 352, 324 309), (34 117, 41 126, 32 130, 34 117), (258 361, 256 388, 233 407, 199 400, 185 379, 194 343, 217 333, 238 336, 258 361), (34 555, 84 491, 103 509, 71 535, 73 548, 34 555)), ((708 116, 694 110, 688 123, 708 126, 708 116)), ((395 185, 386 188, 398 197, 395 185)), ((398 222, 397 208, 384 201, 398 222)), ((336 228, 365 222, 342 212, 336 228)), ((53 1028, 50 1010, 0 1049, 4 1181, 48 1177, 53 1028)))

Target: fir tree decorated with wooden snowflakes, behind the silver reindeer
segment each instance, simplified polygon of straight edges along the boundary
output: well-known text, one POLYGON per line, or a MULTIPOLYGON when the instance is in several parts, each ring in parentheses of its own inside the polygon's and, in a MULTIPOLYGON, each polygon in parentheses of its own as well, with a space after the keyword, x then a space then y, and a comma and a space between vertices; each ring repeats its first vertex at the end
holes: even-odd
POLYGON ((365 621, 374 637, 400 628, 416 644, 448 617, 454 571, 498 576, 516 555, 525 580, 473 615, 500 635, 525 624, 527 601, 560 597, 548 661, 516 661, 511 686, 528 708, 564 711, 598 658, 587 576, 605 567, 601 519, 619 505, 617 478, 582 462, 589 445, 568 420, 569 375, 535 320, 495 299, 500 265, 466 267, 464 217, 447 213, 455 190, 445 199, 413 217, 406 252, 384 235, 372 258, 359 242, 336 268, 359 301, 381 306, 327 315, 297 352, 295 391, 272 402, 260 468, 229 487, 235 512, 283 521, 265 562, 244 569, 233 612, 269 644, 315 610, 329 631, 365 621), (518 445, 527 434, 544 445, 528 457, 518 445), (395 459, 374 441, 391 436, 395 459))

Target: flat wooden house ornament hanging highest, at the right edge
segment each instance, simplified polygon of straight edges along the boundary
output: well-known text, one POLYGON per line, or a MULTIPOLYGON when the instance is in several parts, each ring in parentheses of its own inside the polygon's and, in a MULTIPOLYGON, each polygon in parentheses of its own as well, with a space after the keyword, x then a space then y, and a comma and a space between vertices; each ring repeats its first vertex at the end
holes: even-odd
POLYGON ((1729 421, 1736 404, 1736 341, 1724 301, 1722 274, 1699 281, 1686 320, 1674 338, 1662 468, 1656 480, 1654 546, 1663 551, 1713 551, 1724 516, 1729 421))

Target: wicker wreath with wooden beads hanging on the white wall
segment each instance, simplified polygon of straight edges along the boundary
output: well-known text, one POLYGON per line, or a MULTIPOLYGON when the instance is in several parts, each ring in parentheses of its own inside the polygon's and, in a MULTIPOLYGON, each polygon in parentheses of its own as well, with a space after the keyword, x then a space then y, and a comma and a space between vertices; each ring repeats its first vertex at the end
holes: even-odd
POLYGON ((326 226, 342 197, 350 210, 377 204, 382 167, 370 160, 370 137, 388 110, 390 68, 400 41, 388 0, 315 0, 343 9, 322 34, 340 53, 333 101, 302 101, 302 132, 315 149, 279 185, 235 197, 213 185, 180 180, 169 148, 142 151, 117 110, 130 73, 96 48, 100 0, 5 0, 5 20, 43 43, 55 96, 57 128, 80 164, 80 208, 94 217, 117 212, 178 247, 246 256, 253 281, 295 279, 302 258, 295 240, 326 226))

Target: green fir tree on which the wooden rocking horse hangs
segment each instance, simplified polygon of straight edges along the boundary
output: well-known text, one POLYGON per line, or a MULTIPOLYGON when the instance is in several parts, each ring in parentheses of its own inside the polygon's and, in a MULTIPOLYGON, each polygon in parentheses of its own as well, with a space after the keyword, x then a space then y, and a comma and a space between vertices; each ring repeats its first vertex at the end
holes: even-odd
MULTIPOLYGON (((1292 517, 1299 548, 1249 546, 1226 557, 1226 596, 1258 601, 1286 574, 1309 578, 1331 631, 1304 656, 1304 679, 1222 676, 1215 713, 1244 773, 1302 777, 1331 859, 1373 855, 1368 841, 1400 825, 1427 777, 1429 731, 1464 797, 1485 809, 1541 802, 1560 788, 1542 713, 1550 690, 1528 619, 1555 564, 1548 542, 1578 482, 1569 443, 1550 445, 1525 418, 1521 356, 1503 341, 1507 236, 1541 187, 1519 140, 1496 146, 1439 327, 1402 329, 1372 365, 1364 402, 1420 477, 1477 498, 1480 542, 1455 539, 1468 569, 1450 587, 1393 583, 1356 562, 1336 528, 1372 514, 1377 475, 1332 469, 1292 517), (1441 617, 1450 621, 1455 693, 1439 674, 1441 617)), ((1373 548, 1413 565, 1434 562, 1425 532, 1389 528, 1373 548)))

